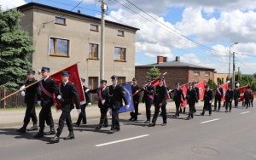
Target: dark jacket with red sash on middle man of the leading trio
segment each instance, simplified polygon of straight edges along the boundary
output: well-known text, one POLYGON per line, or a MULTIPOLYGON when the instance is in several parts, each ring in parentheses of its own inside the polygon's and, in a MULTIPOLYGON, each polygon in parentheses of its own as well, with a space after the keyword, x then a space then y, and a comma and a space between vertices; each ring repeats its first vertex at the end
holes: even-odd
MULTIPOLYGON (((59 95, 59 89, 57 87, 56 81, 48 77, 45 81, 44 79, 39 82, 39 88, 40 88, 40 83, 43 84, 43 87, 45 90, 49 92, 49 94, 55 94, 56 96, 59 95)), ((51 97, 49 97, 47 94, 43 92, 42 89, 40 89, 40 95, 38 95, 38 100, 53 100, 51 97)))

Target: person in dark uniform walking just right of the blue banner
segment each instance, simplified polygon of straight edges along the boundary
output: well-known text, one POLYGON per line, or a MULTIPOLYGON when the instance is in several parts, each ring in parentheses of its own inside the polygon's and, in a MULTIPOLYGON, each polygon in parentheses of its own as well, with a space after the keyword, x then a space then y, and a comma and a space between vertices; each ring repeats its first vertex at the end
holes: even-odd
MULTIPOLYGON (((136 78, 133 78, 132 81, 137 81, 136 78)), ((134 106, 134 112, 131 111, 131 118, 129 120, 132 121, 137 121, 137 113, 138 113, 138 105, 139 105, 139 100, 140 100, 140 94, 139 94, 139 90, 140 90, 140 86, 138 84, 136 85, 131 85, 131 90, 132 90, 132 98, 133 98, 133 106, 134 106)))

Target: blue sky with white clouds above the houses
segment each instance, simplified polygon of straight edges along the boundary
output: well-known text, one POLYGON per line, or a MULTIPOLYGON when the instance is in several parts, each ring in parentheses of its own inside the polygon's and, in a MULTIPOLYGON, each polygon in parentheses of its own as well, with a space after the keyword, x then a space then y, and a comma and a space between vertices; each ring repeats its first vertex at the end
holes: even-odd
MULTIPOLYGON (((0 0, 0 5, 6 10, 34 2, 71 10, 80 1, 0 0)), ((239 67, 243 74, 256 72, 255 0, 105 0, 105 3, 106 20, 140 29, 136 40, 137 66, 156 63, 157 55, 168 57, 168 61, 180 56, 183 62, 228 73, 230 53, 232 63, 235 52, 236 71, 239 67)), ((82 14, 101 17, 99 0, 84 0, 73 11, 78 9, 82 14)))

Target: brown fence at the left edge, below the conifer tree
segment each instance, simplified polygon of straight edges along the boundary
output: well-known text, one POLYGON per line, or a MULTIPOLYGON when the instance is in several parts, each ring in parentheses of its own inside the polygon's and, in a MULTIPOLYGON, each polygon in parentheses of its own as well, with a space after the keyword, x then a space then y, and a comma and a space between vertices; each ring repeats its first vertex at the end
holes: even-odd
MULTIPOLYGON (((0 88, 0 98, 2 99, 3 97, 14 92, 15 90, 0 88)), ((5 100, 1 100, 1 108, 9 108, 15 106, 26 106, 24 103, 24 97, 21 94, 15 94, 5 100)))

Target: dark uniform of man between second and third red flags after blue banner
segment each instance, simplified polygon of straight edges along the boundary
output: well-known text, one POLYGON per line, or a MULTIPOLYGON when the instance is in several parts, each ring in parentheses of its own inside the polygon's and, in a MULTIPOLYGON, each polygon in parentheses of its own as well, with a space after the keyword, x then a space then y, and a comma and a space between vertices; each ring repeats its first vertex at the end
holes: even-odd
POLYGON ((190 117, 193 118, 195 103, 198 102, 198 96, 196 94, 195 88, 189 88, 187 90, 186 100, 188 100, 188 104, 189 104, 189 116, 187 117, 187 119, 189 119, 190 117))

